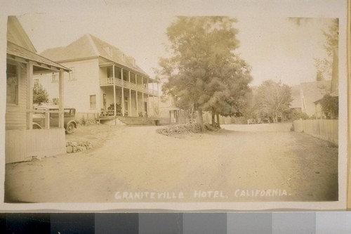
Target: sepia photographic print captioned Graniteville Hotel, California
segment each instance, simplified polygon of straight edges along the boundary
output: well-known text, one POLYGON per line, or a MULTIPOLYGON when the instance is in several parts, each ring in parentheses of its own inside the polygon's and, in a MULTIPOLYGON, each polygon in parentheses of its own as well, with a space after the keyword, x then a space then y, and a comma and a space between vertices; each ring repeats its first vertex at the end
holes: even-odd
POLYGON ((339 29, 8 15, 4 203, 340 202, 339 29))

